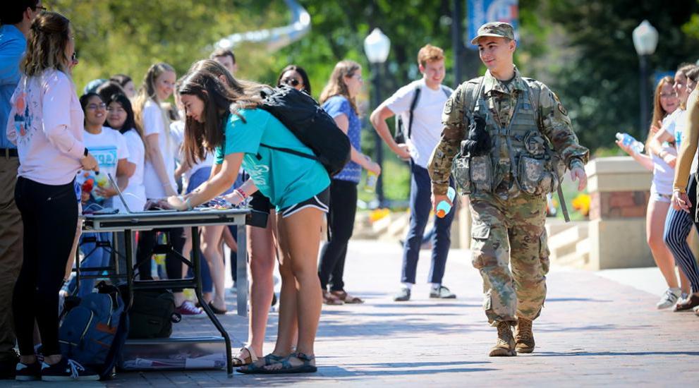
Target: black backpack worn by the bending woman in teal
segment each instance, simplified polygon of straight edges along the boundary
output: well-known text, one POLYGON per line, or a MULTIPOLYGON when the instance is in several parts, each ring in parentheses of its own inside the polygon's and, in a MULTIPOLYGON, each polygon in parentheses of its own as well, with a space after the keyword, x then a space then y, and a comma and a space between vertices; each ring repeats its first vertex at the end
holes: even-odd
POLYGON ((317 160, 331 177, 342 171, 350 160, 349 138, 313 97, 288 85, 275 87, 264 97, 260 108, 281 121, 315 155, 260 143, 262 147, 317 160))

